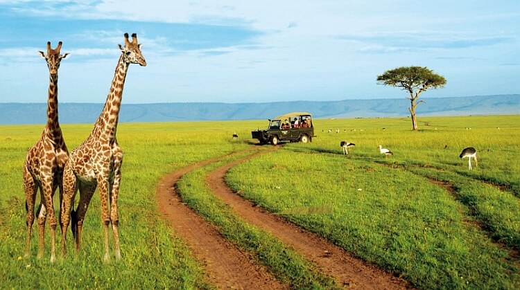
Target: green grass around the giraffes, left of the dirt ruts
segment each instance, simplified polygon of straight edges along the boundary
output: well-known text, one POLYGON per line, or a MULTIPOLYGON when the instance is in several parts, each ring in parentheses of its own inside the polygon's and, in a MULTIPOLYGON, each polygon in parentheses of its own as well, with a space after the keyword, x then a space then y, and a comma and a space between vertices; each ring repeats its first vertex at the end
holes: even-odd
MULTIPOLYGON (((248 147, 231 142, 226 123, 120 124, 118 141, 125 154, 119 194, 121 262, 102 262, 103 230, 98 194, 94 194, 83 230, 82 249, 50 264, 49 228, 46 253, 37 260, 37 226, 33 226, 31 257, 23 258, 26 212, 21 169, 28 147, 40 137, 42 125, 0 126, 0 281, 4 289, 209 288, 202 268, 187 245, 171 233, 157 212, 155 188, 168 172, 196 161, 248 147), (195 127, 195 129, 194 129, 195 127), (51 278, 49 278, 51 277, 51 278), (79 280, 81 279, 81 280, 79 280)), ((234 127, 232 125, 232 127, 234 127)), ((69 150, 83 142, 92 125, 62 125, 69 150)), ((230 131, 230 132, 229 132, 230 131)), ((238 130, 237 130, 238 132, 238 130)), ((57 196, 58 194, 56 194, 57 196)), ((58 197, 55 196, 55 209, 58 197)), ((38 198, 39 199, 39 198, 38 198)), ((77 202, 76 198, 76 202, 77 202)), ((57 230, 58 235, 60 231, 57 230)), ((58 237, 58 241, 60 238, 58 237)), ((57 243, 58 253, 60 242, 57 243)))

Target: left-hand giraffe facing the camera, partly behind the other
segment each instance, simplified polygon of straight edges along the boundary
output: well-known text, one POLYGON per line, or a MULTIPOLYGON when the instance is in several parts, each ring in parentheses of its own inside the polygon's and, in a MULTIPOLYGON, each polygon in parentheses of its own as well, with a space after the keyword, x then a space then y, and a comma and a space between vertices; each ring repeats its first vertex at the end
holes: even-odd
MULTIPOLYGON (((67 162, 69 151, 62 135, 58 122, 58 69, 60 62, 69 53, 60 54, 62 42, 55 49, 51 42, 47 42, 47 54, 39 51, 49 67, 49 96, 47 100, 47 123, 33 147, 31 147, 24 163, 24 191, 26 194, 26 257, 29 256, 31 246, 31 232, 35 219, 34 207, 38 189, 40 190, 40 206, 36 211, 38 223, 38 258, 44 253, 44 233, 46 216, 49 214, 51 228, 51 262, 55 261, 55 230, 56 217, 53 206, 53 196, 56 188, 60 189, 60 203, 62 200, 63 168, 67 162)), ((60 204, 61 206, 61 204, 60 204)), ((61 222, 60 222, 61 224, 61 222)), ((63 230, 63 228, 62 228, 63 230)))

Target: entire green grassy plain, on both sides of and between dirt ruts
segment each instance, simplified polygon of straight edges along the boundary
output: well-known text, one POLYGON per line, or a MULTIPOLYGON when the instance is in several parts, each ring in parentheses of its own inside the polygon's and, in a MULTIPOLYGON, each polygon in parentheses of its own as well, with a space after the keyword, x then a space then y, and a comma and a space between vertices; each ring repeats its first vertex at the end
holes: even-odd
MULTIPOLYGON (((266 120, 119 124, 123 257, 110 264, 102 259, 97 193, 77 258, 70 251, 51 264, 47 228, 45 255, 37 259, 36 225, 31 256, 24 257, 22 167, 43 125, 0 126, 0 288, 214 288, 159 213, 156 190, 169 172, 218 156, 182 177, 182 200, 291 288, 342 287, 212 196, 204 176, 253 152, 263 154, 227 172, 234 191, 413 287, 520 288, 520 116, 419 116, 419 132, 410 130, 409 118, 316 119, 311 143, 284 143, 277 150, 250 138, 266 126, 266 120), (234 132, 239 138, 232 138, 234 132), (344 155, 340 141, 356 145, 344 155), (380 154, 380 144, 393 155, 380 154), (478 156, 473 170, 458 156, 470 146, 478 156)), ((92 125, 62 129, 71 151, 92 125)), ((55 194, 56 210, 58 203, 55 194)), ((73 249, 70 233, 67 247, 73 249)))

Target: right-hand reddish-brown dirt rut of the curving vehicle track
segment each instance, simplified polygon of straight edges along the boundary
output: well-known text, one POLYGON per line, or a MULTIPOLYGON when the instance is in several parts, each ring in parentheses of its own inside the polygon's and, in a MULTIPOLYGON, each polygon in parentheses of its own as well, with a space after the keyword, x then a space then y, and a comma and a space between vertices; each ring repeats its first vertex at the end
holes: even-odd
POLYGON ((281 217, 272 215, 254 203, 243 199, 225 184, 227 171, 239 163, 256 156, 239 158, 218 167, 207 175, 207 183, 216 197, 222 199, 241 218, 254 226, 272 233, 285 244, 313 262, 323 273, 336 279, 339 285, 353 289, 407 289, 408 282, 396 278, 378 267, 367 264, 345 252, 326 239, 302 229, 281 217))

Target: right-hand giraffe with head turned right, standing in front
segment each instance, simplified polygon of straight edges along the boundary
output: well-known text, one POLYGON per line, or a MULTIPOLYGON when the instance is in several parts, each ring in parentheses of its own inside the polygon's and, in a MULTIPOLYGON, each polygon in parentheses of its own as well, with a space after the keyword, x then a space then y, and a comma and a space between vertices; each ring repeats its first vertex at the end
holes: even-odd
MULTIPOLYGON (((103 257, 105 262, 110 260, 108 251, 109 224, 112 224, 116 259, 121 259, 117 196, 121 182, 123 152, 116 140, 116 130, 123 86, 130 64, 146 66, 146 60, 141 54, 141 44, 137 43, 135 33, 132 34, 132 42, 129 42, 128 33, 125 33, 125 46, 119 44, 119 48, 121 49, 121 57, 117 62, 112 87, 110 87, 105 106, 98 120, 94 123, 94 129, 92 129, 92 133, 87 140, 72 150, 69 161, 65 165, 63 176, 62 223, 63 227, 67 228, 69 219, 71 219, 72 233, 76 237, 76 257, 80 249, 81 230, 85 214, 90 199, 98 188, 101 196, 101 221, 105 230, 105 255, 103 257), (73 210, 74 198, 78 190, 80 201, 76 210, 73 210), (107 202, 110 202, 110 212, 107 202)), ((63 230, 62 256, 67 253, 66 237, 67 230, 63 230)))

